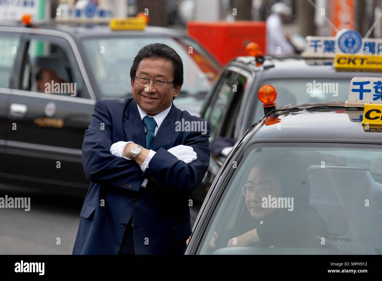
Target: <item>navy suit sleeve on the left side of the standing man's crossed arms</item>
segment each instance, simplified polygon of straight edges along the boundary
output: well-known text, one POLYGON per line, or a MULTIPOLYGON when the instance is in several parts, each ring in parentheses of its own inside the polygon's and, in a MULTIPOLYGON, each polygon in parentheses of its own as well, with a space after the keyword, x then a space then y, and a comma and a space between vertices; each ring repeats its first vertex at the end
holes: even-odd
POLYGON ((113 144, 112 130, 111 116, 105 104, 97 101, 82 145, 82 164, 86 178, 97 184, 138 191, 143 181, 141 168, 136 162, 110 152, 113 144))

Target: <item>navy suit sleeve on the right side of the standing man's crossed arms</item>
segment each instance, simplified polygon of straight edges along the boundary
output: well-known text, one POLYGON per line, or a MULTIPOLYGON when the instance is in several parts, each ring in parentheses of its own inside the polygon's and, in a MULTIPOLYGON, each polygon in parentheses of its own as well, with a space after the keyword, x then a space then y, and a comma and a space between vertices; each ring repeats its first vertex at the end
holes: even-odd
MULTIPOLYGON (((204 122, 204 120, 203 120, 204 122)), ((197 154, 197 159, 189 164, 179 160, 164 148, 159 148, 152 157, 143 177, 153 177, 160 186, 185 191, 191 194, 202 182, 210 162, 209 136, 210 125, 207 123, 205 135, 201 132, 190 132, 182 145, 191 146, 197 154)))

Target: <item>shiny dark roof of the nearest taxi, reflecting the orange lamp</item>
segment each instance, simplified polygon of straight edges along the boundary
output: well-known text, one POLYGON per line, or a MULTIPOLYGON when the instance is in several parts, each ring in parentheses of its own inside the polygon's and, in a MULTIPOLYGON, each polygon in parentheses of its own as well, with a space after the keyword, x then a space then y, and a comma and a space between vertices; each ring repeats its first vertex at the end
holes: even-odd
POLYGON ((343 102, 280 107, 252 125, 241 141, 382 143, 382 134, 365 131, 361 122, 350 120, 354 115, 349 113, 363 115, 363 108, 345 108, 343 102))

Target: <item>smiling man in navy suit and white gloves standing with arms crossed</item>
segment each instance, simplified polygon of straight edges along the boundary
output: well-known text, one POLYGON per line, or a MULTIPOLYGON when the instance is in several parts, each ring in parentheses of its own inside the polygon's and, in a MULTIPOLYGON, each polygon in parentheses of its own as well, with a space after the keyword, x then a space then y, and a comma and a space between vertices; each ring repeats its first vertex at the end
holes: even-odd
POLYGON ((165 44, 143 47, 130 70, 133 98, 102 100, 85 131, 91 181, 73 254, 183 254, 189 195, 210 159, 210 125, 172 100, 183 63, 165 44))

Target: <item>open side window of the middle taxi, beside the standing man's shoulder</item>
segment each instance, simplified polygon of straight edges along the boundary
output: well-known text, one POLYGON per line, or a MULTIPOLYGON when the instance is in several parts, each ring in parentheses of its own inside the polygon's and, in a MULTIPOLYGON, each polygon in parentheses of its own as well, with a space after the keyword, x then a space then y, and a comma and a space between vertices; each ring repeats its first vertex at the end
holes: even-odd
POLYGON ((210 123, 210 141, 219 135, 233 137, 236 118, 240 109, 246 78, 234 71, 222 75, 204 118, 210 123), (228 76, 227 76, 228 75, 228 76))

